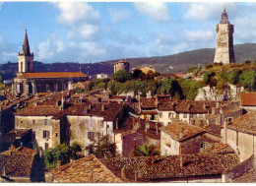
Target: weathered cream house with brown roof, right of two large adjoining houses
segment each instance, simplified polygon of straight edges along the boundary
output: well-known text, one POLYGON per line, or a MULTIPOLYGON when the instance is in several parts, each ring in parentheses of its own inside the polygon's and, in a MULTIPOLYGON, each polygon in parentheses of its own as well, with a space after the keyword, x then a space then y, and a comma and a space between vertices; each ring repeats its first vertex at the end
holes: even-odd
POLYGON ((96 136, 109 135, 115 142, 114 129, 118 129, 125 116, 126 105, 119 103, 80 103, 74 104, 56 118, 65 118, 66 138, 69 143, 79 142, 89 147, 96 136))

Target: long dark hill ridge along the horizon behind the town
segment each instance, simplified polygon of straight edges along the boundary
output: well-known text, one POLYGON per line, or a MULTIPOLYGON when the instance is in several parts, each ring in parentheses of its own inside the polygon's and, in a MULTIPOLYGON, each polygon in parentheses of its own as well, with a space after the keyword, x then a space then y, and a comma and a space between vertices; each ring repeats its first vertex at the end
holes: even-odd
MULTIPOLYGON (((234 54, 236 63, 242 63, 246 60, 256 60, 256 43, 237 44, 234 45, 234 54)), ((130 62, 130 69, 141 65, 152 65, 161 74, 182 73, 186 72, 190 66, 198 64, 211 64, 214 61, 215 48, 204 48, 192 51, 177 53, 174 55, 144 57, 144 58, 127 58, 130 62)), ((36 58, 36 56, 35 56, 36 58)), ((80 66, 82 72, 89 75, 98 73, 113 74, 113 65, 117 60, 103 61, 98 63, 41 63, 34 62, 34 72, 61 72, 61 71, 79 71, 80 66)), ((9 80, 16 76, 18 63, 8 62, 0 65, 0 75, 3 80, 9 80)))

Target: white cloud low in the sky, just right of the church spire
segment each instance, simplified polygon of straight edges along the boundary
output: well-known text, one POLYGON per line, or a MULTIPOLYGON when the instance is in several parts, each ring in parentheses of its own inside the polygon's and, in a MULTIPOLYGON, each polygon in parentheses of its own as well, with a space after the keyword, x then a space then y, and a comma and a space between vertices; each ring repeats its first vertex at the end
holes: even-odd
POLYGON ((51 35, 38 46, 38 60, 49 60, 64 51, 64 43, 56 35, 51 35))

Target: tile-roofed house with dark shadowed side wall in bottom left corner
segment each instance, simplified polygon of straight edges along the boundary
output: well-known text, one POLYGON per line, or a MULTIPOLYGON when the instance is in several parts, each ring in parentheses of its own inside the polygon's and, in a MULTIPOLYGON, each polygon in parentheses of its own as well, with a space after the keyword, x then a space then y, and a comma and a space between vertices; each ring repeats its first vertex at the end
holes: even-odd
POLYGON ((12 146, 0 154, 0 174, 7 182, 43 182, 44 158, 32 149, 12 146))

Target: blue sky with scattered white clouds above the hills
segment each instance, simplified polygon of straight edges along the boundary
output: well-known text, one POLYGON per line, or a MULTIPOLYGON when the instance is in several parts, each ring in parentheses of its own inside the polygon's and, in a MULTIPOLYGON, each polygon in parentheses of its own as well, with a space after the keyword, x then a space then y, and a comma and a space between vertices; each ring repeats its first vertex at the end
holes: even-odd
POLYGON ((234 25, 234 44, 256 43, 255 2, 0 1, 0 63, 18 61, 26 29, 34 60, 44 63, 214 48, 224 7, 234 25))

